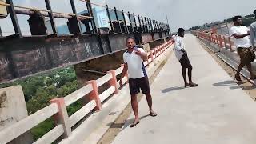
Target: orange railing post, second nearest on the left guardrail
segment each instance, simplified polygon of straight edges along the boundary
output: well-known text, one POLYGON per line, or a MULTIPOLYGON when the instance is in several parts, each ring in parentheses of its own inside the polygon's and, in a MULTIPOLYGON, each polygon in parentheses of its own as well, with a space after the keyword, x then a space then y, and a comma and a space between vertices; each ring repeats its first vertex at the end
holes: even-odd
POLYGON ((97 82, 95 80, 92 80, 86 83, 93 87, 93 90, 90 92, 89 98, 90 98, 90 101, 94 100, 96 102, 96 107, 94 108, 94 110, 96 111, 101 110, 102 102, 101 102, 101 99, 99 98, 97 82))

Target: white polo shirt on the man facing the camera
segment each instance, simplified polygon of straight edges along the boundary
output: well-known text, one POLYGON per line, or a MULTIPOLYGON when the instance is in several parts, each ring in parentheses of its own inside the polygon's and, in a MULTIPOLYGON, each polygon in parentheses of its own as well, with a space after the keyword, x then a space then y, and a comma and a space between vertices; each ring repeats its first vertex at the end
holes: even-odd
MULTIPOLYGON (((143 49, 138 48, 138 50, 146 54, 143 49)), ((123 54, 123 61, 128 65, 128 78, 135 79, 146 77, 146 70, 142 58, 135 54, 135 50, 131 54, 126 51, 123 54)))

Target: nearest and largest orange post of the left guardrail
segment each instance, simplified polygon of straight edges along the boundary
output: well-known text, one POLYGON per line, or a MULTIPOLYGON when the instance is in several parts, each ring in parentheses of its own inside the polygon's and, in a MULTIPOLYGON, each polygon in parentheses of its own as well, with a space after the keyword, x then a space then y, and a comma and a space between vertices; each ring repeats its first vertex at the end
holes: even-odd
POLYGON ((50 100, 50 103, 56 103, 58 106, 58 113, 54 115, 54 121, 56 126, 62 124, 64 129, 63 138, 68 138, 71 134, 71 126, 69 116, 67 114, 64 98, 54 98, 50 100))

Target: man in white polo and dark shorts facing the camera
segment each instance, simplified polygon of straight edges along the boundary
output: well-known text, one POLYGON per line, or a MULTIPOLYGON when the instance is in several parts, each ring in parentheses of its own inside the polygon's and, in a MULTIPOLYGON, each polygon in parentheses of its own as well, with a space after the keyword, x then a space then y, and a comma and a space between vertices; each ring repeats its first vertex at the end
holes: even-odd
POLYGON ((122 86, 122 78, 126 75, 128 70, 131 106, 135 115, 135 120, 130 127, 134 127, 139 123, 137 94, 140 90, 142 90, 142 93, 146 95, 146 101, 150 108, 150 116, 155 117, 157 114, 152 109, 150 83, 143 64, 143 60, 147 59, 146 52, 142 48, 135 46, 134 38, 131 37, 126 39, 126 46, 128 49, 123 54, 124 68, 122 70, 119 84, 122 86))

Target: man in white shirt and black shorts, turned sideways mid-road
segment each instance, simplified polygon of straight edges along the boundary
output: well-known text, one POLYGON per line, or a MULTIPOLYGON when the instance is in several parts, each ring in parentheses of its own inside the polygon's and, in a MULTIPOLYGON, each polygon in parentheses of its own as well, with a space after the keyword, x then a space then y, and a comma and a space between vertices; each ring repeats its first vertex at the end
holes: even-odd
POLYGON ((184 33, 185 30, 183 28, 178 29, 178 36, 174 38, 175 44, 174 44, 174 50, 175 50, 175 55, 178 58, 178 61, 182 65, 182 76, 184 79, 184 84, 185 87, 196 87, 198 84, 194 83, 192 81, 192 66, 190 63, 190 59, 187 56, 186 50, 185 50, 185 45, 182 40, 184 38, 184 33), (188 76, 189 76, 189 82, 186 80, 186 70, 188 70, 188 76))

